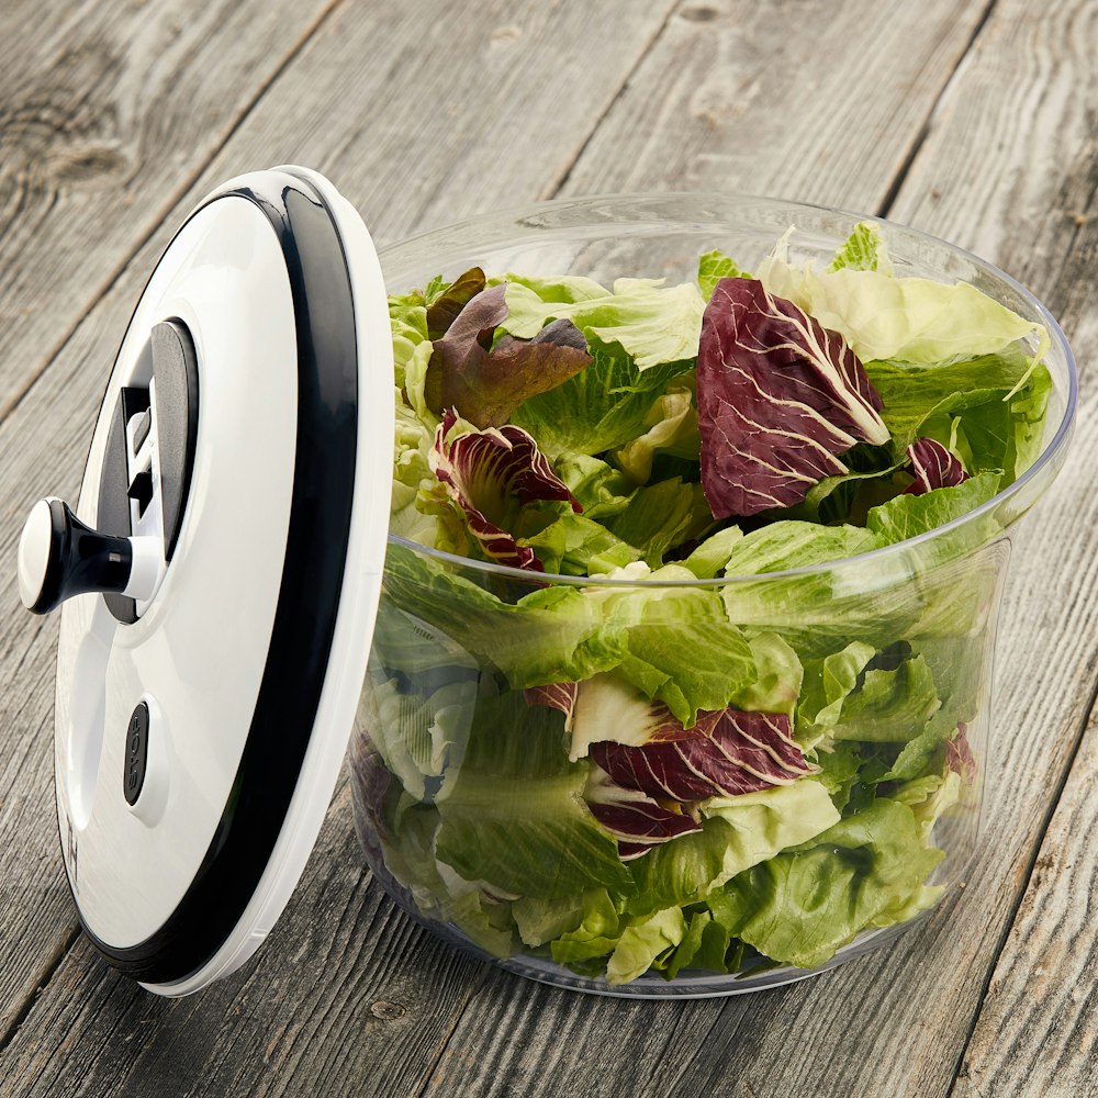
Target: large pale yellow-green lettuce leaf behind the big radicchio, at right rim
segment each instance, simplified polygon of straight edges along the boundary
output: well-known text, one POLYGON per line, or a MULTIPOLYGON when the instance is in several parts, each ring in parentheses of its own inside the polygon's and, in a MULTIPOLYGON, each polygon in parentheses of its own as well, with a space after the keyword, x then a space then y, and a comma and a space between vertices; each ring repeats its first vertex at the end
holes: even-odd
POLYGON ((863 362, 895 359, 932 366, 995 355, 1030 337, 1039 341, 1040 358, 1049 344, 1041 325, 967 282, 893 278, 852 267, 817 272, 810 265, 791 266, 782 250, 760 267, 766 289, 842 335, 863 362))

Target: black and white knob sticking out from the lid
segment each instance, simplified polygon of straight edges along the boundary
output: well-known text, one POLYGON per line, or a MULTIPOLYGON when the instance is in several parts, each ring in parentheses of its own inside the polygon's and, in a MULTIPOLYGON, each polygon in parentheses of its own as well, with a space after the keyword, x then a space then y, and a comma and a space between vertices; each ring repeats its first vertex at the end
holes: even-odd
POLYGON ((100 534, 67 503, 40 500, 19 539, 19 595, 33 614, 48 614, 91 591, 148 598, 161 560, 159 539, 100 534))

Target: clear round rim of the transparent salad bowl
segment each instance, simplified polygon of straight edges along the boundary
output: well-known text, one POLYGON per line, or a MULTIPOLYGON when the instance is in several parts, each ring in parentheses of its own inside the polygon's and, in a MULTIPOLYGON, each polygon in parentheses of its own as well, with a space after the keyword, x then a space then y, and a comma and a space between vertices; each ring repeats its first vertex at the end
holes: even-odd
MULTIPOLYGON (((475 560, 471 557, 462 557, 459 553, 448 552, 444 549, 436 549, 430 546, 422 545, 418 541, 413 541, 411 538, 401 537, 397 534, 388 534, 386 545, 401 546, 402 548, 408 549, 414 553, 430 557, 439 561, 445 561, 449 564, 457 564, 461 568, 468 568, 477 572, 486 573, 490 575, 505 576, 514 580, 522 580, 531 585, 567 585, 567 586, 579 586, 579 587, 725 587, 733 586, 736 584, 743 583, 760 583, 776 581, 794 576, 803 575, 814 575, 824 572, 834 572, 838 569, 845 569, 850 564, 871 564, 877 562, 884 562, 892 560, 893 558, 900 557, 901 554, 910 552, 910 550, 927 545, 928 542, 935 541, 941 537, 945 537, 953 530, 960 529, 961 527, 967 525, 970 522, 981 518, 982 516, 990 514, 993 511, 1001 506, 1007 500, 1018 495, 1022 489, 1032 483, 1041 472, 1047 468, 1052 462, 1053 458, 1057 457, 1062 451, 1064 451, 1067 441, 1072 436, 1072 432, 1075 426, 1075 417, 1078 407, 1078 396, 1079 396, 1079 379, 1078 379, 1078 368, 1075 360, 1075 355, 1072 351, 1071 344, 1067 340, 1067 336, 1064 334, 1064 329, 1061 327, 1060 322, 1052 315, 1044 303, 1026 285, 1008 274, 1001 268, 997 267, 995 264, 989 262, 986 259, 982 259, 975 253, 970 251, 967 248, 963 248, 960 245, 951 244, 949 240, 943 240, 941 237, 934 236, 931 233, 926 233, 922 229, 914 228, 910 225, 905 225, 901 222, 890 221, 887 217, 879 217, 876 214, 863 214, 858 213, 852 210, 847 210, 841 206, 828 206, 815 202, 798 202, 791 199, 780 199, 771 198, 763 194, 748 194, 748 193, 736 193, 730 194, 720 191, 648 191, 648 192, 623 192, 623 193, 598 193, 598 194, 583 194, 583 195, 569 195, 565 199, 549 199, 541 202, 533 202, 523 206, 514 206, 506 210, 498 210, 492 213, 478 214, 472 217, 467 217, 458 222, 453 222, 447 225, 440 225, 432 229, 426 229, 422 233, 417 233, 414 236, 406 237, 401 240, 393 242, 392 244, 385 245, 379 249, 379 257, 384 260, 385 256, 396 251, 397 249, 404 249, 417 243, 422 243, 430 237, 437 237, 447 233, 458 233, 467 232, 469 229, 474 229, 480 226, 489 225, 500 225, 508 220, 513 222, 518 222, 522 220, 527 220, 535 217, 538 214, 546 212, 560 212, 569 206, 583 208, 591 206, 596 203, 602 203, 604 205, 609 204, 610 206, 628 208, 635 206, 638 203, 674 203, 676 201, 683 202, 718 202, 718 203, 742 203, 744 205, 749 204, 760 204, 770 205, 772 208, 785 208, 789 211, 796 210, 811 210, 818 211, 827 214, 837 214, 841 217, 849 217, 856 221, 871 221, 878 225, 884 225, 887 228, 898 228, 904 233, 908 233, 915 237, 925 240, 928 244, 935 245, 941 248, 945 248, 948 251, 960 256, 963 259, 968 260, 976 267, 982 268, 987 274, 995 279, 1004 282, 1006 285, 1010 287, 1019 296, 1026 300, 1030 306, 1034 310, 1041 320, 1041 323, 1045 326, 1050 336, 1050 349, 1052 346, 1057 347, 1064 357, 1064 366, 1067 372, 1067 392, 1066 400, 1064 402, 1064 410, 1061 416, 1060 424, 1052 438, 1049 440, 1047 445, 1043 447, 1041 452, 1038 455, 1037 460, 1015 481, 1008 484, 1005 489, 996 492, 989 500, 986 500, 978 507, 974 507, 972 511, 965 512, 965 514, 952 519, 942 526, 935 526, 930 530, 926 530, 922 534, 918 534, 911 538, 905 538, 903 541, 895 541, 892 545, 881 546, 877 549, 871 549, 863 553, 856 553, 853 557, 838 557, 834 560, 821 561, 816 564, 805 564, 800 568, 788 568, 782 569, 774 572, 752 572, 749 574, 741 575, 720 575, 710 579, 652 579, 650 576, 640 575, 637 578, 609 578, 602 575, 564 575, 557 572, 533 572, 527 569, 514 568, 509 564, 500 564, 494 561, 482 561, 475 560)), ((640 222, 639 222, 640 223, 640 222)), ((596 223, 592 223, 596 224, 596 223)), ((607 224, 612 224, 607 221, 607 224)), ((572 226, 570 226, 572 227, 572 226)), ((1047 351, 1045 352, 1047 354, 1047 351)), ((675 563, 675 562, 669 562, 675 563)), ((666 567, 666 565, 663 565, 666 567)))

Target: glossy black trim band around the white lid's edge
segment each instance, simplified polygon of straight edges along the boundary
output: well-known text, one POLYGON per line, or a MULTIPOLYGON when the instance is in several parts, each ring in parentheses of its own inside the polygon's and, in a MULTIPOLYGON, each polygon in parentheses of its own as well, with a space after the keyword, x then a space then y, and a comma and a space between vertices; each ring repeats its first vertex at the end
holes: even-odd
POLYGON ((298 436, 290 523, 251 727, 193 882, 164 925, 136 945, 120 949, 102 941, 80 916, 96 949, 115 968, 146 984, 178 983, 212 960, 267 869, 313 735, 351 527, 358 345, 343 242, 316 191, 289 172, 268 172, 262 183, 249 180, 215 192, 199 209, 234 197, 253 202, 270 222, 293 295, 298 436), (336 256, 343 256, 343 264, 336 256))

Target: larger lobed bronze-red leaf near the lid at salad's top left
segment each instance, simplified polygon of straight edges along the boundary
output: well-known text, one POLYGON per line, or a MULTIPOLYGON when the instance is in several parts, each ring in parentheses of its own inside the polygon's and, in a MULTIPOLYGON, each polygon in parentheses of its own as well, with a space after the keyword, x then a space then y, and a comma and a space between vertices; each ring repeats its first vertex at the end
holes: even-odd
POLYGON ((505 284, 482 290, 436 339, 424 386, 436 414, 456 407, 478 427, 501 427, 523 401, 590 366, 583 333, 569 320, 547 324, 533 339, 504 336, 493 347, 495 329, 507 316, 505 290, 505 284))

